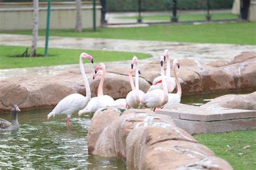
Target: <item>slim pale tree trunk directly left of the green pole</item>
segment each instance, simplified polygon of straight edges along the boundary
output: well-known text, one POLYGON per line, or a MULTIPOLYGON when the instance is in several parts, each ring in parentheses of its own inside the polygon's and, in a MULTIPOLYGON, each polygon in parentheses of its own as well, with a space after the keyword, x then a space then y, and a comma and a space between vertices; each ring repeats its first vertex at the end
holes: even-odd
POLYGON ((36 56, 36 46, 37 46, 37 37, 38 37, 38 0, 33 0, 33 39, 30 57, 36 56))

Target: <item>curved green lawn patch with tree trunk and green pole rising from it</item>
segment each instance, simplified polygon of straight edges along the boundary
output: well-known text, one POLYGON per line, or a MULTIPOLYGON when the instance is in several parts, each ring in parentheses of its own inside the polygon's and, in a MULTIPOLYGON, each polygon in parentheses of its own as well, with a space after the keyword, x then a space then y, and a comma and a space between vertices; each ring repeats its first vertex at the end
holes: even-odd
MULTIPOLYGON (((78 64, 80 53, 89 53, 93 60, 98 62, 111 62, 119 60, 130 60, 133 55, 139 59, 151 57, 146 53, 117 52, 117 51, 97 51, 97 50, 71 50, 71 49, 49 49, 49 57, 12 57, 20 55, 25 51, 21 46, 1 46, 0 45, 0 69, 37 67, 63 64, 78 64)), ((37 53, 44 53, 44 48, 37 48, 37 53)), ((89 60, 84 60, 88 63, 89 60)))

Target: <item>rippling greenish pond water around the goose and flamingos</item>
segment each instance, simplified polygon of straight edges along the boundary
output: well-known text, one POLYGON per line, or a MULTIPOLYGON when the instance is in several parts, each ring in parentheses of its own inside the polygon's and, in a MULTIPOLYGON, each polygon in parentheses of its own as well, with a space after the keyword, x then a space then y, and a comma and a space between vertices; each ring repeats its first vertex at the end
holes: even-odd
MULTIPOLYGON (((250 93, 253 91, 227 92, 250 93)), ((181 103, 201 105, 225 92, 183 96, 181 103)), ((79 168, 79 169, 126 169, 117 158, 91 155, 87 150, 86 135, 93 114, 81 118, 74 114, 70 129, 66 117, 56 116, 47 120, 52 108, 39 108, 18 113, 19 131, 0 132, 0 169, 5 168, 79 168)), ((10 114, 0 118, 10 120, 10 114)))

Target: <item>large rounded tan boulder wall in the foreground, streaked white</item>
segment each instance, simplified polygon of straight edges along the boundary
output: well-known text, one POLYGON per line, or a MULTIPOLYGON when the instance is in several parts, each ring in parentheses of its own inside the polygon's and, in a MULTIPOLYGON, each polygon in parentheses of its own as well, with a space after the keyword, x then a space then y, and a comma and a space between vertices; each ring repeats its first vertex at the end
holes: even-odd
POLYGON ((92 154, 122 158, 131 169, 232 169, 169 116, 150 110, 98 110, 87 142, 92 154))

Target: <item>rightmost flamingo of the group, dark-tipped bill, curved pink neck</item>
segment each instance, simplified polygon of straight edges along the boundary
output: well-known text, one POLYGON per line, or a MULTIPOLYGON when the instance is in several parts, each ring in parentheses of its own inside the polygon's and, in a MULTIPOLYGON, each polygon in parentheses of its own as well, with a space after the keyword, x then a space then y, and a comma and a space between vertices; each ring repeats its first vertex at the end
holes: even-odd
POLYGON ((179 69, 179 63, 177 59, 173 60, 173 74, 174 74, 174 78, 177 84, 177 93, 169 93, 168 94, 168 102, 165 104, 169 104, 169 103, 180 103, 180 98, 181 98, 181 86, 179 83, 179 79, 177 77, 177 73, 176 73, 176 65, 178 66, 179 69))

